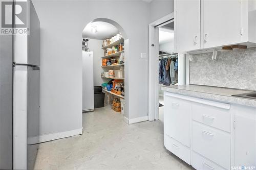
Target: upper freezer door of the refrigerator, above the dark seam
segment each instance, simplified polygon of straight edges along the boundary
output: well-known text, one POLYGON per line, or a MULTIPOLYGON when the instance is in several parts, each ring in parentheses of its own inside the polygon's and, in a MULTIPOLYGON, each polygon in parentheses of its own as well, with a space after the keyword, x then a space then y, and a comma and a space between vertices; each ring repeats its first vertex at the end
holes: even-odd
POLYGON ((31 0, 28 0, 27 8, 29 35, 14 35, 14 62, 39 66, 40 22, 31 0))

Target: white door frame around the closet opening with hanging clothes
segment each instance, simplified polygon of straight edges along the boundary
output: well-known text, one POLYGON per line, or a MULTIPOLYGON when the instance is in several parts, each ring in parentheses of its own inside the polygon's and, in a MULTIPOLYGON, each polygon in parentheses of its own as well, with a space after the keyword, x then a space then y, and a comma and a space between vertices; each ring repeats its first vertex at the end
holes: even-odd
MULTIPOLYGON (((148 120, 154 121, 159 119, 159 27, 162 23, 173 20, 174 12, 163 16, 162 18, 148 24, 148 120), (154 44, 152 46, 152 44, 154 44)), ((186 84, 187 74, 186 72, 186 55, 178 54, 178 84, 186 84)))

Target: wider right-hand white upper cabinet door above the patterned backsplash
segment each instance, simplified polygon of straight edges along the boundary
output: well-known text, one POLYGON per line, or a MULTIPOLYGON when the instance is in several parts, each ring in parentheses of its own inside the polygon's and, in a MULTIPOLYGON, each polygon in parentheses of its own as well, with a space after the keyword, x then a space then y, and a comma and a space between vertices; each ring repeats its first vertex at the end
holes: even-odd
POLYGON ((240 1, 201 1, 201 48, 241 42, 240 1))

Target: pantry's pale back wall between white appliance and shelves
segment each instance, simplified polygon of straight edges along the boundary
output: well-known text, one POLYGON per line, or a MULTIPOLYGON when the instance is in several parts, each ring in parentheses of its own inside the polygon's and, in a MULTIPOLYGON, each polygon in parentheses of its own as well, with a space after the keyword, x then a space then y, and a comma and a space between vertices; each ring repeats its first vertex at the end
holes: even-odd
POLYGON ((101 57, 103 56, 102 50, 103 40, 89 39, 88 45, 90 51, 93 52, 93 84, 94 86, 101 86, 104 79, 101 78, 100 72, 103 70, 101 67, 101 57))

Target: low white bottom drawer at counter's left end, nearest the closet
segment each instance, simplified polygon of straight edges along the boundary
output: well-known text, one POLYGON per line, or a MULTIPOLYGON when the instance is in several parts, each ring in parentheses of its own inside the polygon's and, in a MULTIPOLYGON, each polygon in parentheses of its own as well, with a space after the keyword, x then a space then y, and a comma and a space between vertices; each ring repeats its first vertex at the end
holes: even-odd
POLYGON ((165 148, 178 156, 180 159, 190 164, 190 150, 185 145, 181 144, 177 140, 164 135, 164 146, 165 148))

